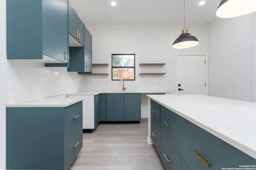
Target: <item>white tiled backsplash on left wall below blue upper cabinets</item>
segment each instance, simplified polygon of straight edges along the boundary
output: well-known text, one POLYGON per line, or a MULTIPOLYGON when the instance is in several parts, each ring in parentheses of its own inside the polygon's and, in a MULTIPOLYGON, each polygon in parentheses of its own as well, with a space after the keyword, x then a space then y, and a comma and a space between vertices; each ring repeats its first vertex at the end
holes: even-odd
POLYGON ((7 104, 80 92, 84 77, 66 67, 34 60, 8 60, 7 104))

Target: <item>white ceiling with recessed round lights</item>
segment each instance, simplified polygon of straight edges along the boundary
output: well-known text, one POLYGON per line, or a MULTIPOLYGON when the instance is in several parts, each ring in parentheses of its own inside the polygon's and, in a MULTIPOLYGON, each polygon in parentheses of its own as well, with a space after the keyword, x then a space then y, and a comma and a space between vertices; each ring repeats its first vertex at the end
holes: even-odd
MULTIPOLYGON (((186 26, 209 23, 220 0, 186 0, 186 26)), ((183 24, 184 0, 69 0, 84 24, 183 24), (116 6, 110 2, 115 1, 116 6)))

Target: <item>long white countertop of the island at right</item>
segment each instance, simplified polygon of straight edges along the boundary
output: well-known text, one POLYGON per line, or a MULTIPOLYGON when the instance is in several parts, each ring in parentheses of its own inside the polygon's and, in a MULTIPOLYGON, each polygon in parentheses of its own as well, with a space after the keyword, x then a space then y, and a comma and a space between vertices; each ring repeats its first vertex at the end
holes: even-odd
POLYGON ((256 103, 203 95, 147 95, 256 158, 256 103))

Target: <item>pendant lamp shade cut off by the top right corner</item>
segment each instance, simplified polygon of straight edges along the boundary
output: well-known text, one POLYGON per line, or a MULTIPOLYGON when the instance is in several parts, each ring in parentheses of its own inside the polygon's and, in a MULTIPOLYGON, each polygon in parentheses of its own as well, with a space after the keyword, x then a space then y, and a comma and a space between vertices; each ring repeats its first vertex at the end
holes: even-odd
POLYGON ((256 11, 256 0, 222 0, 216 10, 219 18, 233 18, 256 11))

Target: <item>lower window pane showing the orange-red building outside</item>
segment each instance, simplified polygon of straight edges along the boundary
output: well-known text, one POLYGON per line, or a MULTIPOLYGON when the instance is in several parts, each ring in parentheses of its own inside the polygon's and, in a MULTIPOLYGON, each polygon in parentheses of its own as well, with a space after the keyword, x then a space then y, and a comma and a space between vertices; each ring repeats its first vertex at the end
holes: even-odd
POLYGON ((112 68, 112 80, 134 80, 134 68, 112 68))

